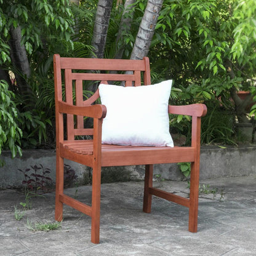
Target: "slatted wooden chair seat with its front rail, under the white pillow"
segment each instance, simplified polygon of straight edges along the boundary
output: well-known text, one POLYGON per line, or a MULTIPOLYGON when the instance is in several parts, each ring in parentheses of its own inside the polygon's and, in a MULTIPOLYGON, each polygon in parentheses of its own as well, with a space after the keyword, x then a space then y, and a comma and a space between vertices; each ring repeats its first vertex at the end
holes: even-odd
MULTIPOLYGON (((73 140, 60 143, 65 151, 84 158, 92 156, 93 140, 73 140)), ((129 166, 140 164, 162 164, 171 162, 193 162, 195 149, 188 146, 123 146, 102 145, 102 166, 129 166)), ((81 160, 83 161, 83 160, 81 160)))

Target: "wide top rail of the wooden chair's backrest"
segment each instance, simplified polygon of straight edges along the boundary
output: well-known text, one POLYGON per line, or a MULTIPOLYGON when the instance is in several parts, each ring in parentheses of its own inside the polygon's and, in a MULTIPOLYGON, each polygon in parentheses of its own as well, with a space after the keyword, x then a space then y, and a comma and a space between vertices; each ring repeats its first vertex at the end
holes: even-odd
POLYGON ((145 71, 144 60, 116 60, 98 58, 61 58, 60 68, 72 70, 141 70, 145 71))

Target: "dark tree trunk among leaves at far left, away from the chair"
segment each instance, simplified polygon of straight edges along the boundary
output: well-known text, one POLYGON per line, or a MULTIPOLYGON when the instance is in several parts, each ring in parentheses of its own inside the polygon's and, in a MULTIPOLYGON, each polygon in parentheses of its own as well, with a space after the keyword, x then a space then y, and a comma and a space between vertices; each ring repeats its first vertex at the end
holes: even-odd
POLYGON ((10 28, 10 58, 12 64, 15 67, 15 78, 17 81, 18 90, 21 95, 27 92, 31 92, 30 86, 26 82, 30 78, 30 63, 28 62, 28 57, 26 56, 25 46, 21 44, 22 31, 20 26, 10 28))

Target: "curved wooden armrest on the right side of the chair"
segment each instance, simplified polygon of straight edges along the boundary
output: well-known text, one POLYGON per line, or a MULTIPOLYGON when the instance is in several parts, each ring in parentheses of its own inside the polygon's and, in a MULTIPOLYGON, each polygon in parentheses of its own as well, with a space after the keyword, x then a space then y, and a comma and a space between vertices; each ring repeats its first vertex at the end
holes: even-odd
POLYGON ((206 105, 204 104, 191 104, 185 106, 168 106, 169 114, 183 114, 187 116, 205 116, 207 113, 206 105))

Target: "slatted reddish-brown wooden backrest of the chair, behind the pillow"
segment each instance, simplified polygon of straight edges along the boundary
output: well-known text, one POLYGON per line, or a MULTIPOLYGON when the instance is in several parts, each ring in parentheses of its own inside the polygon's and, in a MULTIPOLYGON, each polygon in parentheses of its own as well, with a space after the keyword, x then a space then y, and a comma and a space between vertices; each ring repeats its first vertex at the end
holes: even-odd
MULTIPOLYGON (((99 58, 66 58, 54 55, 55 106, 58 102, 70 105, 92 105, 99 97, 98 89, 92 97, 86 96, 90 82, 106 84, 108 82, 124 82, 125 86, 151 84, 150 62, 148 57, 143 60, 116 60, 99 58), (143 79, 143 81, 142 81, 143 79)), ((57 137, 63 140, 63 116, 56 111, 58 118, 57 137)), ((74 140, 77 135, 92 135, 92 129, 84 127, 84 117, 67 114, 67 139, 74 140)))

